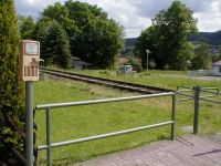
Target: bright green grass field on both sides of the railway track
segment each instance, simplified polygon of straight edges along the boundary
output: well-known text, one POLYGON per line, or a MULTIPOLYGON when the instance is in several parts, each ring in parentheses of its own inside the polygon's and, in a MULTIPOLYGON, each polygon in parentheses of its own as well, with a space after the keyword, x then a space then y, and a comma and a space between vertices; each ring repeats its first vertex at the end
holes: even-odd
MULTIPOLYGON (((219 86, 221 81, 198 81, 187 77, 160 75, 159 72, 144 73, 141 76, 115 75, 109 71, 86 71, 97 76, 114 77, 143 84, 176 89, 177 85, 219 86)), ((178 73, 179 74, 179 73, 178 73)), ((182 74, 181 74, 182 75, 182 74)), ((103 86, 90 85, 66 80, 50 80, 34 84, 35 104, 74 102, 116 96, 139 95, 103 86)), ((93 106, 78 106, 52 110, 52 142, 92 136, 170 120, 171 97, 108 103, 93 106)), ((38 111, 35 121, 39 126, 38 144, 45 144, 45 112, 38 111)), ((176 111, 176 136, 188 134, 183 131, 193 121, 192 102, 178 103, 176 111)), ((220 105, 204 103, 200 105, 199 133, 212 135, 221 132, 220 105)), ((137 132, 133 134, 104 138, 94 142, 70 145, 53 149, 53 163, 66 165, 86 160, 155 141, 169 139, 170 126, 137 132)), ((44 165, 45 152, 40 152, 39 165, 44 165)))

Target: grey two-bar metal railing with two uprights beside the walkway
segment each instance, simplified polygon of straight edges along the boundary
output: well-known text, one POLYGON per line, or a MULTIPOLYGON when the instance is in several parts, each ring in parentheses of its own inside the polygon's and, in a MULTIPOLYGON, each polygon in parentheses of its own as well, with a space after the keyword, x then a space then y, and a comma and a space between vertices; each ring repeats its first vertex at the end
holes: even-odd
POLYGON ((46 160, 48 165, 52 165, 52 148, 76 144, 76 143, 83 143, 155 127, 160 127, 165 125, 171 125, 171 133, 170 138, 173 141, 175 136, 175 110, 176 110, 176 94, 173 92, 168 93, 158 93, 158 94, 148 94, 148 95, 139 95, 139 96, 128 96, 128 97, 117 97, 117 98, 105 98, 105 100, 94 100, 94 101, 82 101, 82 102, 70 102, 70 103, 56 103, 56 104, 43 104, 43 105, 36 105, 35 110, 46 110, 46 145, 39 145, 38 151, 46 149, 46 160), (146 126, 139 126, 135 128, 113 132, 113 133, 106 133, 78 139, 72 139, 72 141, 65 141, 65 142, 59 142, 59 143, 51 143, 51 111, 52 108, 57 107, 67 107, 67 106, 81 106, 81 105, 92 105, 92 104, 103 104, 103 103, 110 103, 110 102, 123 102, 123 101, 133 101, 133 100, 143 100, 143 98, 152 98, 152 97, 161 97, 161 96, 172 96, 172 108, 171 108, 171 120, 167 122, 161 122, 157 124, 146 125, 146 126))

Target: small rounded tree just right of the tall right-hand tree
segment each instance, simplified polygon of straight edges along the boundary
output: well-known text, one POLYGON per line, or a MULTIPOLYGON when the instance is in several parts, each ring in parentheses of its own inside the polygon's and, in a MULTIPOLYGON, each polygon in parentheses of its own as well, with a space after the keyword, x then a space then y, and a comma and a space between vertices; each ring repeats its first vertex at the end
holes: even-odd
POLYGON ((208 70, 211 66, 211 55, 207 43, 201 43, 196 49, 196 56, 191 61, 191 68, 193 70, 208 70))

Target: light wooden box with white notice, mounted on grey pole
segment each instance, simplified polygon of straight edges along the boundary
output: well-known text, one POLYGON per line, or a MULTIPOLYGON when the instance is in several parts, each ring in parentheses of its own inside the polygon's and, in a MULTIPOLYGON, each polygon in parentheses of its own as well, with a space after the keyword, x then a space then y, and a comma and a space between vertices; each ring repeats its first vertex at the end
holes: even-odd
POLYGON ((20 77, 22 81, 39 81, 40 42, 23 40, 21 43, 20 77))

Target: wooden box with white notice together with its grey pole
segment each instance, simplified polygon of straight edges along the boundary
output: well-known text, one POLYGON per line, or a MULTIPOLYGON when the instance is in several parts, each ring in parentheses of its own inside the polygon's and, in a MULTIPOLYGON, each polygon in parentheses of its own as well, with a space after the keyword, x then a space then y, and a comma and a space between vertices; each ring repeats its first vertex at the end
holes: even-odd
POLYGON ((25 82, 25 158, 33 166, 33 81, 39 81, 40 42, 21 43, 20 79, 25 82))

